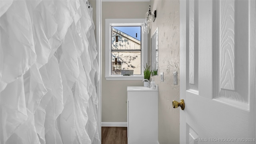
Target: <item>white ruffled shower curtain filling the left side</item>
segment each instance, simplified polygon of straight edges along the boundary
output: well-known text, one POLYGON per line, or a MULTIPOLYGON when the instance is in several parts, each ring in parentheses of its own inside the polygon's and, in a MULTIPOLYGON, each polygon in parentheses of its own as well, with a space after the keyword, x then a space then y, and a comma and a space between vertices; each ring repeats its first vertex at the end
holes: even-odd
POLYGON ((0 0, 0 144, 100 144, 92 7, 0 0))

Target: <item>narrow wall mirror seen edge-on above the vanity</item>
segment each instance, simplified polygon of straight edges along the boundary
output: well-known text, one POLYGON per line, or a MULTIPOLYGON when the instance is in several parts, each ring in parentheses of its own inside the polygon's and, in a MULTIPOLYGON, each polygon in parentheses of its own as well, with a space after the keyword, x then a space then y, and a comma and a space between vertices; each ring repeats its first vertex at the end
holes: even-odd
POLYGON ((158 28, 151 37, 151 69, 153 76, 158 75, 158 28))

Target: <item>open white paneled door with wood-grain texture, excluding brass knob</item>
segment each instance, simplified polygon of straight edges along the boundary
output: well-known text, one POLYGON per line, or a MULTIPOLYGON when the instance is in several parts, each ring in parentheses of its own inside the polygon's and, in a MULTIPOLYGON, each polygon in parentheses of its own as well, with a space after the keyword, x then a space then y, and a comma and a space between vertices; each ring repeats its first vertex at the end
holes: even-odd
POLYGON ((255 56, 255 0, 180 1, 180 144, 256 143, 255 56))

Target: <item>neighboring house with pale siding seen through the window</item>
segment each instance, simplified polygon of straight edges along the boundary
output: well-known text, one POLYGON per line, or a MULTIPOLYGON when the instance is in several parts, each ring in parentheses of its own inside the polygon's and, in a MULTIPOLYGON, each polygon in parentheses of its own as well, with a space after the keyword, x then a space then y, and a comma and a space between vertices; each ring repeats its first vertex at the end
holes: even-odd
MULTIPOLYGON (((136 38, 112 26, 111 74, 121 74, 121 70, 134 70, 134 75, 141 75, 141 42, 136 38)), ((141 26, 125 26, 130 32, 140 37, 141 26), (136 30, 139 28, 139 32, 136 30)))

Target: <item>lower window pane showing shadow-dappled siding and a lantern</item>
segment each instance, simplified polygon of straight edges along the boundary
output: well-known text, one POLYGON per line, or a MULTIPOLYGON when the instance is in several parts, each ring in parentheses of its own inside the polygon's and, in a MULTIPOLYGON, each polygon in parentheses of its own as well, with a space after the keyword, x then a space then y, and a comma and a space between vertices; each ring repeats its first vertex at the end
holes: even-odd
POLYGON ((112 52, 112 74, 121 74, 121 70, 134 70, 141 74, 141 52, 112 52))

